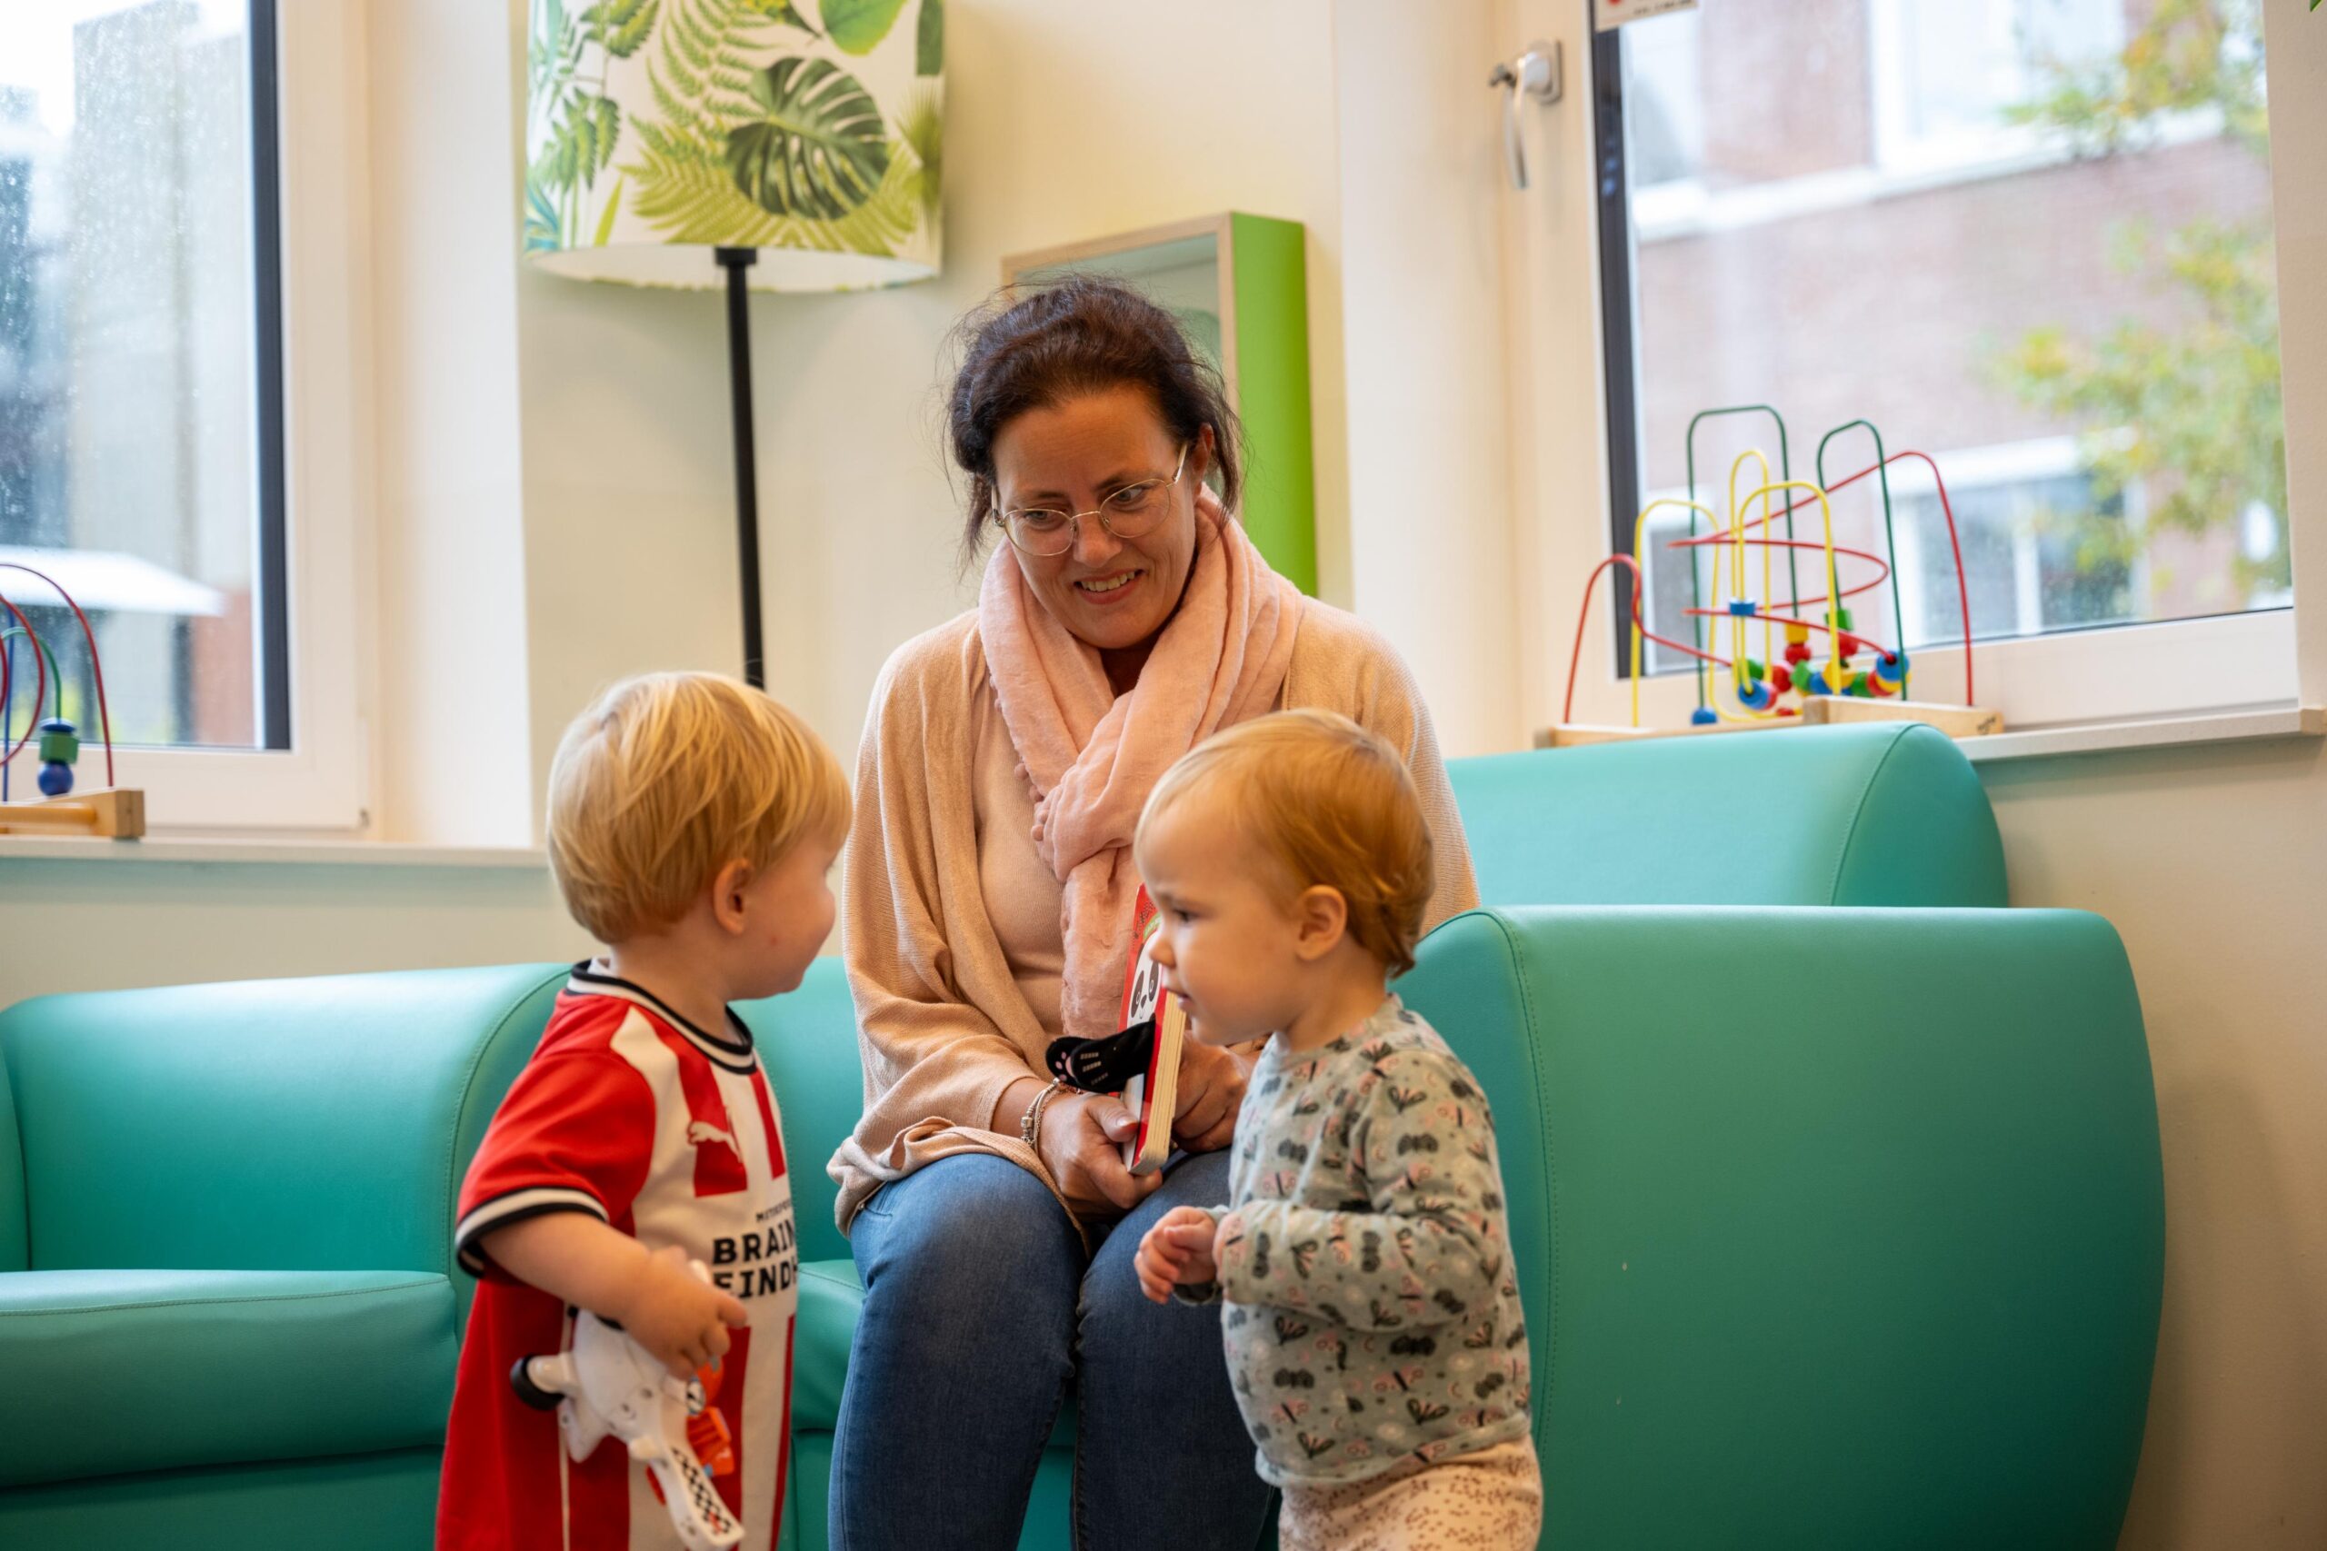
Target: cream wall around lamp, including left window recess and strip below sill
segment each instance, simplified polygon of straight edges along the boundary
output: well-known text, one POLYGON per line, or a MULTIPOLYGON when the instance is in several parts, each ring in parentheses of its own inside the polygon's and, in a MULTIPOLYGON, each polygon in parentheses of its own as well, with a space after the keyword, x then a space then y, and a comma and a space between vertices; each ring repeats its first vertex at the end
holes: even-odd
MULTIPOLYGON (((721 300, 517 263, 524 0, 370 0, 363 44, 370 832, 524 844, 596 688, 740 663, 721 300)), ((956 5, 947 74, 945 274, 752 298, 770 688, 842 758, 887 653, 975 593, 935 391, 1008 251, 1305 223, 1322 591, 1352 593, 1329 2, 956 5)), ((545 872, 0 860, 0 1005, 584 946, 545 872)))

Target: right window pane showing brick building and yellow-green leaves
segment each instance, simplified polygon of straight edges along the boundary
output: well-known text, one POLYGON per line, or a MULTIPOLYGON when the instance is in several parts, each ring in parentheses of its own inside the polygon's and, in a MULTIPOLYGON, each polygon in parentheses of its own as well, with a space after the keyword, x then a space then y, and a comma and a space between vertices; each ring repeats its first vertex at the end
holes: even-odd
MULTIPOLYGON (((1820 437, 1864 416, 1948 481, 1983 660, 2208 616, 2292 639, 2253 0, 1706 0, 1601 35, 1594 65, 1620 91, 1599 186, 1617 549, 1692 472, 1715 509, 1745 449, 1815 479, 1820 437), (1766 416, 1722 416, 1692 470, 1692 416, 1738 405, 1782 409, 1785 446, 1766 416)), ((1871 460, 1852 430, 1824 474, 1871 460)), ((1873 479, 1834 500, 1836 542, 1899 567, 1855 623, 1950 646, 1934 479, 1894 463, 1890 493, 1890 544, 1873 479)), ((1815 516, 1796 509, 1799 537, 1815 516)), ((1687 526, 1650 519, 1648 616, 1673 639, 1694 626, 1668 549, 1687 526)), ((1696 551, 1699 598, 1708 581, 1696 551)), ((2292 695, 2292 658, 2285 677, 2292 695)))

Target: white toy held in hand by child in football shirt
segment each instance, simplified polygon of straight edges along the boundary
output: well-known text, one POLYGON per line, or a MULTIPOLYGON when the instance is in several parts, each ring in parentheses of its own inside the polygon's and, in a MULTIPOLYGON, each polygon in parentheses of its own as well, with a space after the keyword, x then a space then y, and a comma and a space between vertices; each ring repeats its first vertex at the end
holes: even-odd
MULTIPOLYGON (((700 1260, 696 1277, 710 1281, 700 1260)), ((705 1377, 679 1379, 654 1356, 586 1309, 575 1314, 570 1351, 519 1358, 510 1370, 517 1395, 547 1411, 558 1409, 565 1453, 586 1460, 607 1437, 619 1437, 633 1460, 647 1467, 654 1495, 670 1509, 679 1544, 689 1551, 724 1551, 742 1542, 742 1523, 719 1500, 712 1474, 735 1470, 726 1423, 710 1409, 705 1377), (712 1467, 698 1458, 712 1456, 712 1467)))

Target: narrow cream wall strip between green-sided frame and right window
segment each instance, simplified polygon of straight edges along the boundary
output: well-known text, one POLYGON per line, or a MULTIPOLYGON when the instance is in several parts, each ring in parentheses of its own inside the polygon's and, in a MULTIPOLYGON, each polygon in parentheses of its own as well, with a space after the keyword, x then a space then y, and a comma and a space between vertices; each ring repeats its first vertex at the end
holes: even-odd
POLYGON ((1527 746, 1506 388, 1496 5, 1340 0, 1350 605, 1447 753, 1527 746))

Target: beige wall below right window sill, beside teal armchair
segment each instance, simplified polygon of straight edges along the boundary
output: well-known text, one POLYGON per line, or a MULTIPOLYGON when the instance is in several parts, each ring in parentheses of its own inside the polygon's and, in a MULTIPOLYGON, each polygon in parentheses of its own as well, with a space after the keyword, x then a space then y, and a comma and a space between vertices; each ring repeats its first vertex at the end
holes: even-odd
POLYGON ((2127 1549, 2327 1546, 2327 751, 1983 765, 2013 905, 2108 916, 2141 986, 2166 1302, 2127 1549))

